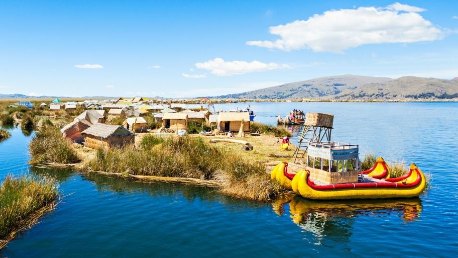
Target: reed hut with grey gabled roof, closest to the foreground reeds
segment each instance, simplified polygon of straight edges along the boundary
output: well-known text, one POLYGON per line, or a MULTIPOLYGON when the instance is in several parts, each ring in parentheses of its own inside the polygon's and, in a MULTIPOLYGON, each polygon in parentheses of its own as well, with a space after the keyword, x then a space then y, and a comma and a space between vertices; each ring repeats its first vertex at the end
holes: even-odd
POLYGON ((92 149, 123 147, 135 142, 135 134, 120 125, 97 123, 81 132, 84 146, 92 149))

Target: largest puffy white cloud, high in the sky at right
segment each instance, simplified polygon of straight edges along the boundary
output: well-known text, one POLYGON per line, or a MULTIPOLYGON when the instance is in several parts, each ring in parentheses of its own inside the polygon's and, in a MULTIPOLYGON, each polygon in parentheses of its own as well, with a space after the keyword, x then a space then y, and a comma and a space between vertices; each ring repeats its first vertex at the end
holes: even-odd
POLYGON ((280 39, 248 41, 250 46, 281 49, 303 48, 315 52, 343 53, 365 44, 411 43, 442 39, 445 32, 425 20, 422 8, 395 3, 385 8, 330 10, 269 28, 280 39))

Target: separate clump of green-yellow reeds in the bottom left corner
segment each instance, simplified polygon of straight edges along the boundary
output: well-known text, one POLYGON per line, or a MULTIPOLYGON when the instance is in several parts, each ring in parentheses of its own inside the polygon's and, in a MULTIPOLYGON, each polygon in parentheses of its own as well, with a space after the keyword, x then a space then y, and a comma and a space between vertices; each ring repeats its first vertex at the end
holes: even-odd
POLYGON ((0 186, 0 249, 52 210, 57 196, 58 185, 52 178, 7 176, 0 186))

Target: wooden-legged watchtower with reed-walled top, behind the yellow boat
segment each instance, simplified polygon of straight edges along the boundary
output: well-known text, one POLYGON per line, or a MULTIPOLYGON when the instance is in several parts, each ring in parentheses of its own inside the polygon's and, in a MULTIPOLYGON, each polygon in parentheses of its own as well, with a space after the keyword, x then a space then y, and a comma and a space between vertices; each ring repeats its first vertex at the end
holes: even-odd
POLYGON ((310 142, 331 141, 331 131, 334 116, 323 113, 307 113, 302 134, 294 151, 294 162, 297 157, 303 158, 310 142))

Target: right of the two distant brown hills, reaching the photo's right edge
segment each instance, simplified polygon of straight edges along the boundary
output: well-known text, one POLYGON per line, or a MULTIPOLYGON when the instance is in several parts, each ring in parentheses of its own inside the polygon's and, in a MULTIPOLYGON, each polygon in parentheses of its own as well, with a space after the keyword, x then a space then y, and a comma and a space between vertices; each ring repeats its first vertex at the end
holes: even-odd
POLYGON ((342 91, 335 99, 453 99, 458 98, 458 81, 403 76, 383 83, 369 83, 342 91))

